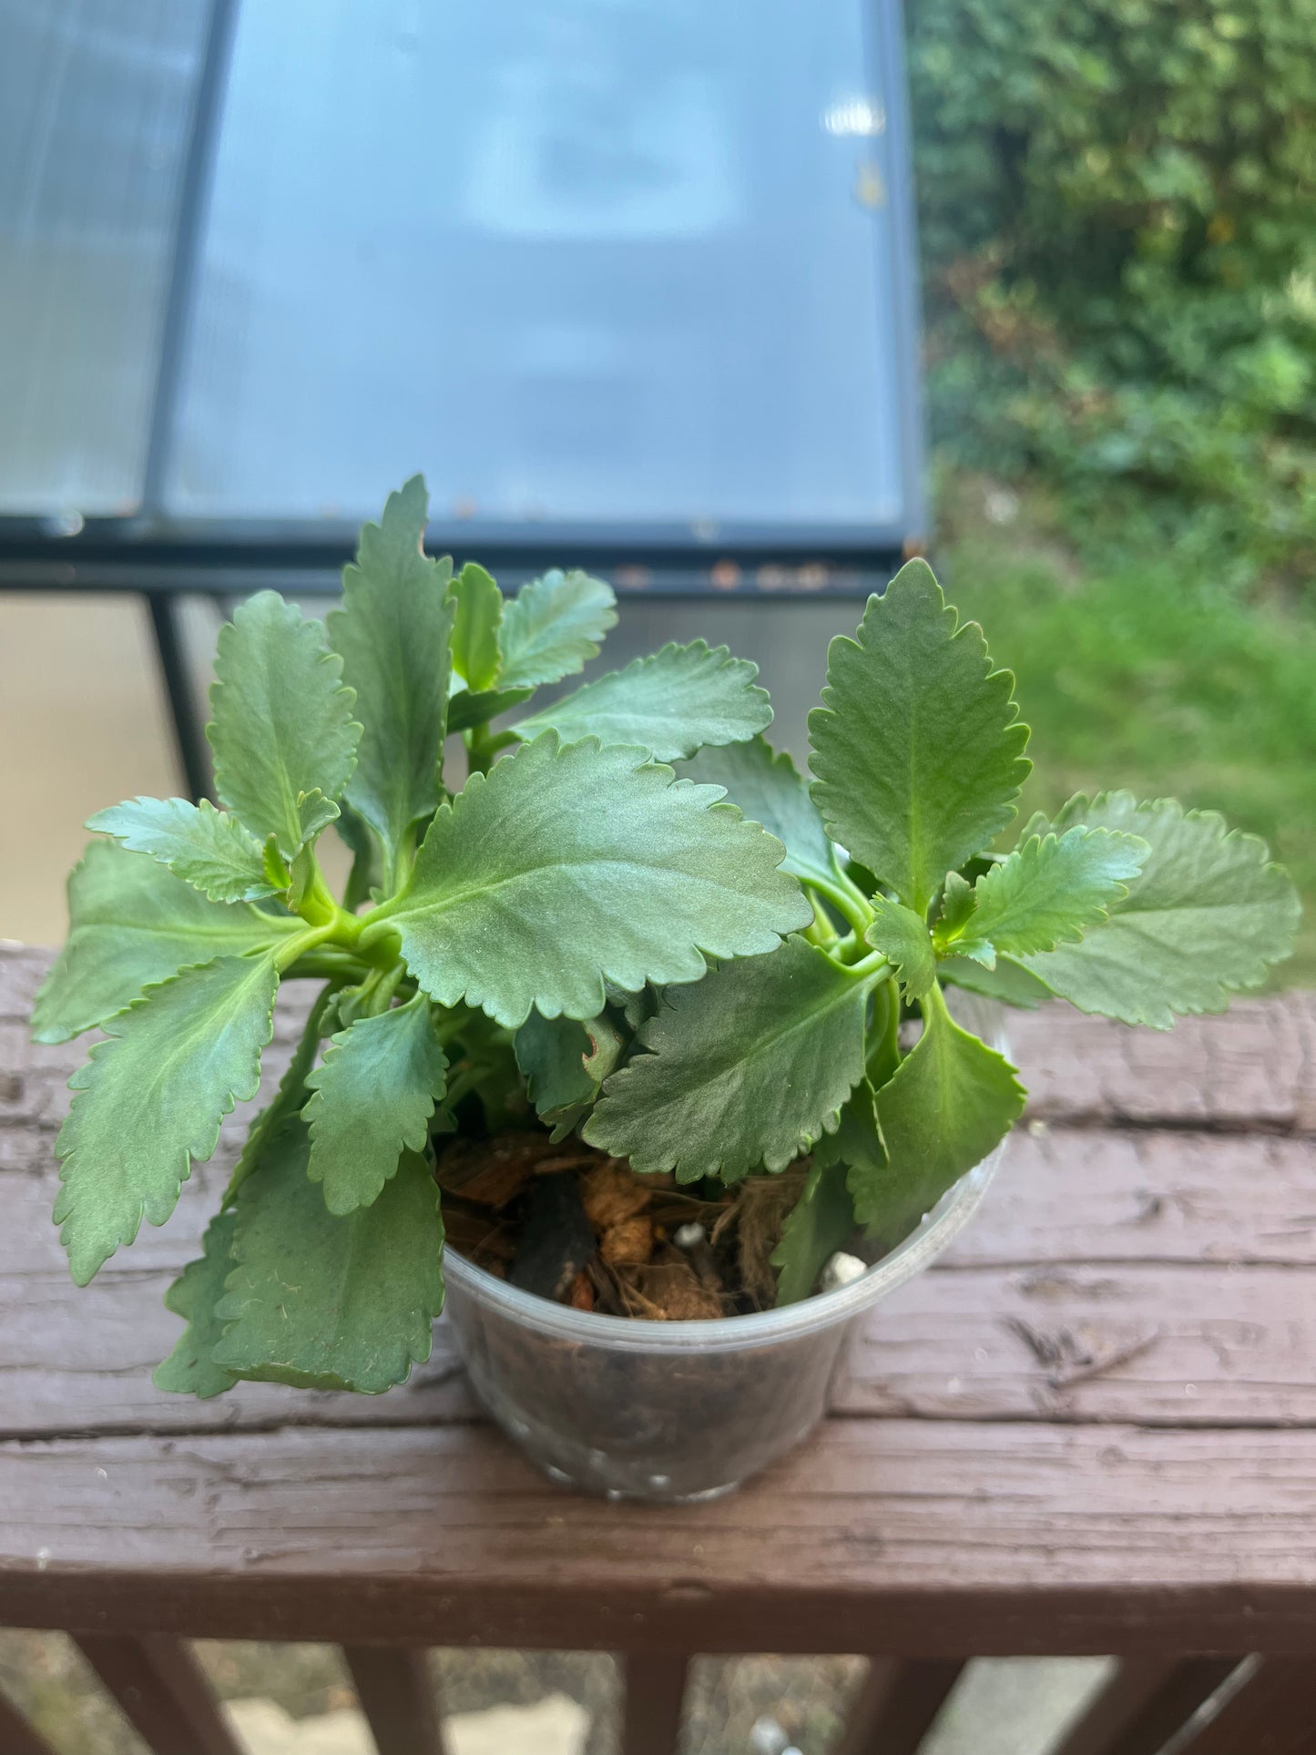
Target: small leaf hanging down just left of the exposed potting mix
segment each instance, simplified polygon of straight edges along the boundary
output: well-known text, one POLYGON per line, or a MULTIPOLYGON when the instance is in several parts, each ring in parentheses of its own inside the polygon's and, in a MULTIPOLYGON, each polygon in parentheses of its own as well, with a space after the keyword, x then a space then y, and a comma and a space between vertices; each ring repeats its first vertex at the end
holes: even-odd
POLYGON ((402 1151, 425 1148, 446 1072, 425 993, 332 1039, 304 1109, 311 1181, 323 1183, 330 1213, 370 1206, 402 1151))

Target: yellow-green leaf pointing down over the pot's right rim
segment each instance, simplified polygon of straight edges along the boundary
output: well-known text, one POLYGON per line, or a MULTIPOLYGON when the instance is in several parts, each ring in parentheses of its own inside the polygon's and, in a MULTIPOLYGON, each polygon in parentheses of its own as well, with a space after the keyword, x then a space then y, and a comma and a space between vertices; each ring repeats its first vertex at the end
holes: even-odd
POLYGON ((997 1146, 1023 1113, 1014 1067, 946 1011, 935 985, 923 1000, 923 1035, 877 1092, 888 1167, 851 1176, 869 1232, 904 1232, 997 1146))

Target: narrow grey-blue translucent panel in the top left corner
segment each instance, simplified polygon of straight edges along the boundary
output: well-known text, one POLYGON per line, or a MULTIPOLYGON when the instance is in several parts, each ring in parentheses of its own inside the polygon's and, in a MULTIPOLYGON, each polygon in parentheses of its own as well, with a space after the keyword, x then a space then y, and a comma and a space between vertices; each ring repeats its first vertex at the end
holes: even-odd
POLYGON ((0 512, 135 511, 205 0, 0 0, 0 512))

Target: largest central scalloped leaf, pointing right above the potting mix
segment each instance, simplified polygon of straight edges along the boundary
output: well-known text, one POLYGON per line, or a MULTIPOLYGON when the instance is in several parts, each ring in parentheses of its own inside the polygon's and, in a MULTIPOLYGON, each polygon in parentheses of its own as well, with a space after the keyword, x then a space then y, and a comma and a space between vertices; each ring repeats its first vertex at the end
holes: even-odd
POLYGON ((361 944, 397 930, 432 999, 511 1027, 532 1006, 595 1018, 605 979, 637 992, 769 951, 812 911, 781 844, 716 797, 640 749, 546 732, 439 807, 361 944))

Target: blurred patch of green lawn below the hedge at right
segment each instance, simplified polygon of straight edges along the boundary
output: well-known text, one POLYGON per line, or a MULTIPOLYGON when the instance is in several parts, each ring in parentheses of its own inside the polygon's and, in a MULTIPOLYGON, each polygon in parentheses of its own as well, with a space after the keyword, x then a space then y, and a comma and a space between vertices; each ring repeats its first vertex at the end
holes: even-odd
POLYGON ((1174 556, 1076 576, 988 525, 960 526, 941 563, 1018 676, 1037 763, 1023 814, 1102 784, 1223 813, 1304 899, 1277 981, 1316 985, 1316 612, 1239 602, 1174 556))

